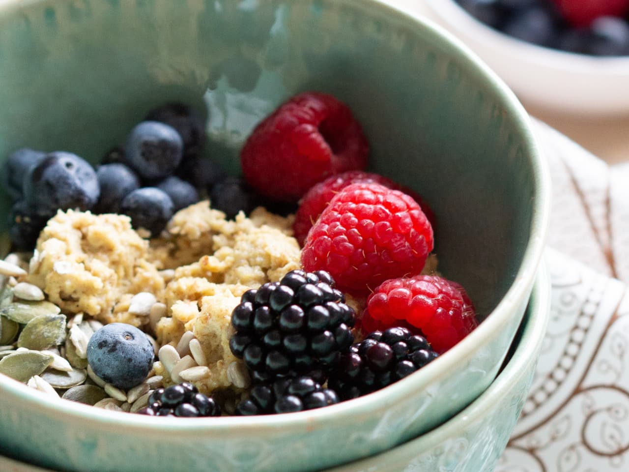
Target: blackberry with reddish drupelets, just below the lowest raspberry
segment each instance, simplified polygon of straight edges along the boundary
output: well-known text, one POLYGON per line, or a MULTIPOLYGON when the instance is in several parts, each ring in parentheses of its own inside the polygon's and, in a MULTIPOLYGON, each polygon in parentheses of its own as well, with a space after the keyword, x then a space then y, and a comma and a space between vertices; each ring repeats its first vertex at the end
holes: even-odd
POLYGON ((437 356, 425 337, 406 328, 374 331, 341 356, 328 386, 342 400, 350 400, 391 385, 437 356))

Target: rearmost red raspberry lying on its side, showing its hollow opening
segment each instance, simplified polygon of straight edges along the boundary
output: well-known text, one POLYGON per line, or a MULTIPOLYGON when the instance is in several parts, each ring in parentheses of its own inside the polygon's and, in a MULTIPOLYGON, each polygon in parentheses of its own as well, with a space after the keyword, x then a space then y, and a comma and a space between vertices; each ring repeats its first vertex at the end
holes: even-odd
POLYGON ((260 123, 240 153, 243 174, 260 194, 298 201, 328 176, 364 169, 369 145, 352 111, 331 95, 294 96, 260 123))

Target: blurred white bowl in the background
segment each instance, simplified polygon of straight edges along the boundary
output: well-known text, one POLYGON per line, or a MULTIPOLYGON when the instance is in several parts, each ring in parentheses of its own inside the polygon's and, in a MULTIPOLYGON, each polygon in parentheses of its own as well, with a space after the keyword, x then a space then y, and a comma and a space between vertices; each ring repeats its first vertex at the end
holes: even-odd
POLYGON ((629 57, 591 57, 536 46, 484 25, 454 0, 424 0, 525 104, 576 115, 629 114, 629 57))

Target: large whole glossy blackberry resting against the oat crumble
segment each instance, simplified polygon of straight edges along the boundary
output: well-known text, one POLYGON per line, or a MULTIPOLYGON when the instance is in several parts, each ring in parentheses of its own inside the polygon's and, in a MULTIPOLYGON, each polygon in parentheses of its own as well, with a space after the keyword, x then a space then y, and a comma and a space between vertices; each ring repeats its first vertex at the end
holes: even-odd
POLYGON ((330 369, 353 342, 354 312, 330 274, 296 270, 246 291, 231 324, 231 352, 263 382, 330 369))

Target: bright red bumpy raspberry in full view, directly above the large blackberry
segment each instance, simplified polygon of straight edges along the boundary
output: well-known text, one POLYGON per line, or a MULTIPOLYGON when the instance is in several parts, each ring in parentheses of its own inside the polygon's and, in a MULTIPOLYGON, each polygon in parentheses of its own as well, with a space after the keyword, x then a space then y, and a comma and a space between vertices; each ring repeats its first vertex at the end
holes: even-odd
POLYGON ((308 233, 301 263, 328 271, 343 291, 367 295, 387 279, 420 273, 432 249, 432 228, 415 200, 379 184, 352 184, 308 233))

